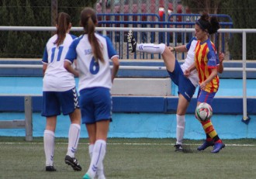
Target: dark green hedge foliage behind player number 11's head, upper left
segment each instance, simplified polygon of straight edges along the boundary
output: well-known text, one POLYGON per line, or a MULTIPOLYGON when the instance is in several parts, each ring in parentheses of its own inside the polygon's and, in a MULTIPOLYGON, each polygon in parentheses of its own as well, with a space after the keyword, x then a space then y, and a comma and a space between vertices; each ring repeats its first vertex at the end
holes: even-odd
MULTIPOLYGON (((52 0, 0 1, 0 26, 51 26, 52 0)), ((79 26, 81 9, 96 0, 59 0, 57 12, 71 15, 72 26, 79 26)), ((78 35, 78 34, 76 34, 78 35)), ((0 31, 0 57, 40 58, 52 32, 0 31)))

